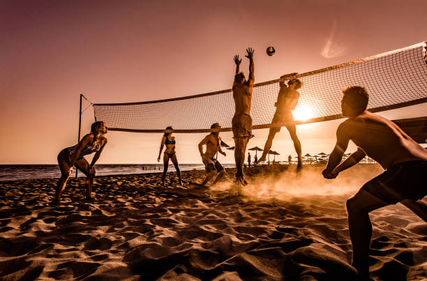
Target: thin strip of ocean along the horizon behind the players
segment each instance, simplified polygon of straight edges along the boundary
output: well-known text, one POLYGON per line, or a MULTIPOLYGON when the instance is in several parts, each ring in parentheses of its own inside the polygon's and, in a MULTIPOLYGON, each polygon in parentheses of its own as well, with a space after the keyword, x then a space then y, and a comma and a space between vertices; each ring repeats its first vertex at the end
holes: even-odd
MULTIPOLYGON (((223 164, 226 168, 235 167, 234 164, 223 164)), ((181 171, 204 169, 202 164, 179 164, 181 171)), ((99 164, 95 165, 96 176, 114 174, 146 174, 163 172, 163 164, 99 164)), ((76 168, 73 167, 75 177, 76 168)), ((174 165, 170 164, 167 172, 175 172, 174 165)), ((0 165, 0 181, 14 181, 19 179, 58 179, 61 176, 58 165, 0 165)), ((84 176, 78 172, 77 176, 84 176)))

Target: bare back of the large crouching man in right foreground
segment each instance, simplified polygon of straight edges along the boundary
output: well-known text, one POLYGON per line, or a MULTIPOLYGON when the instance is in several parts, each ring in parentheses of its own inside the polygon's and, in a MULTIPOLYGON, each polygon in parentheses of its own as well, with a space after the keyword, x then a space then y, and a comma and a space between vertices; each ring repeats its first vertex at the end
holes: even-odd
POLYGON ((351 139, 384 169, 399 162, 427 160, 427 150, 395 123, 368 111, 344 121, 337 135, 351 139))

